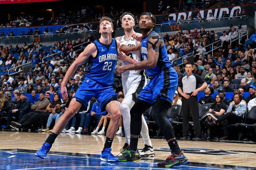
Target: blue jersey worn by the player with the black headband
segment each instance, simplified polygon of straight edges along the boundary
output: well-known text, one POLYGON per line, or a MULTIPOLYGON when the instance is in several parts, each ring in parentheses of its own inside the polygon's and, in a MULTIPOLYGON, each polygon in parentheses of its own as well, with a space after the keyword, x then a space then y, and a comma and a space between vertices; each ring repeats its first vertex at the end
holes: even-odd
MULTIPOLYGON (((161 37, 158 33, 156 33, 155 31, 152 31, 148 34, 147 37, 142 39, 142 41, 141 41, 141 55, 142 55, 141 58, 142 58, 142 60, 148 59, 148 45, 147 45, 148 37, 152 37, 152 35, 151 35, 152 33, 154 33, 154 36, 156 35, 156 36, 161 37)), ((166 50, 165 44, 164 44, 164 46, 161 49, 159 49, 159 56, 158 56, 156 67, 147 69, 146 71, 147 71, 149 77, 153 76, 153 78, 154 78, 155 76, 159 75, 163 70, 169 71, 170 68, 172 68, 172 64, 169 61, 169 58, 167 55, 167 50, 166 50)))

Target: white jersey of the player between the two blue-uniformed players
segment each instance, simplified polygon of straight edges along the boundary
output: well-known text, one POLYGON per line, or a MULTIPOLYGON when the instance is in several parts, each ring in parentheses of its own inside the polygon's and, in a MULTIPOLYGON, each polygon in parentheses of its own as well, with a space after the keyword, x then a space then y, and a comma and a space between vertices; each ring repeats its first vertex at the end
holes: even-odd
MULTIPOLYGON (((126 40, 125 39, 125 35, 122 36, 119 41, 120 41, 121 45, 124 44, 124 45, 128 45, 130 47, 138 45, 137 40, 133 39, 132 37, 129 40, 126 40)), ((130 51, 130 52, 126 53, 126 55, 128 57, 131 57, 132 59, 136 60, 137 62, 140 62, 140 51, 130 51)), ((131 64, 131 63, 126 62, 126 61, 119 61, 119 62, 122 63, 122 65, 131 64)), ((127 71, 125 71, 122 74, 135 74, 135 75, 139 75, 139 73, 137 73, 136 70, 127 70, 127 71)))

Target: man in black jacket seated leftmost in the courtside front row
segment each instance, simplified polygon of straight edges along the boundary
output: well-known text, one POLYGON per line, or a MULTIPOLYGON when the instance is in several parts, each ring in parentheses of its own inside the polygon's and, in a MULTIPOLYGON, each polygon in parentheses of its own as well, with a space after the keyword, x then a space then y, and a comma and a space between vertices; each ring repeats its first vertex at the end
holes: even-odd
POLYGON ((11 129, 10 124, 12 122, 12 116, 20 119, 23 115, 31 112, 30 101, 26 98, 24 92, 20 93, 20 100, 15 105, 14 109, 10 110, 7 114, 7 126, 5 129, 11 129))

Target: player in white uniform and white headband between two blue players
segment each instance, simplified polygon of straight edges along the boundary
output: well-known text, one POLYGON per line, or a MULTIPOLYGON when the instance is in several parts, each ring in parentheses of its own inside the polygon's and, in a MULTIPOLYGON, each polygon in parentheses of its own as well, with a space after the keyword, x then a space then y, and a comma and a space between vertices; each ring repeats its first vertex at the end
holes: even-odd
MULTIPOLYGON (((127 46, 137 46, 140 45, 140 42, 133 39, 132 34, 135 33, 133 30, 133 26, 135 26, 134 16, 131 13, 125 12, 122 16, 122 27, 124 28, 125 35, 122 37, 116 37, 116 40, 120 41, 121 45, 127 46)), ((124 47, 124 46, 123 46, 124 47)), ((140 62, 140 50, 138 51, 130 51, 126 53, 127 56, 131 57, 131 63, 140 62)), ((120 61, 122 65, 131 64, 129 62, 120 61)), ((130 122, 131 122, 131 115, 130 110, 135 103, 140 91, 146 86, 147 80, 144 74, 144 70, 140 72, 134 70, 125 71, 122 74, 122 85, 124 91, 124 100, 121 104, 121 112, 123 115, 123 122, 124 122, 124 132, 125 132, 125 144, 124 147, 121 149, 122 152, 127 150, 130 144, 130 122)), ((147 123, 142 115, 142 128, 140 132, 145 147, 143 148, 142 152, 140 152, 141 157, 154 157, 155 153, 151 144, 151 140, 148 135, 148 126, 147 123)))

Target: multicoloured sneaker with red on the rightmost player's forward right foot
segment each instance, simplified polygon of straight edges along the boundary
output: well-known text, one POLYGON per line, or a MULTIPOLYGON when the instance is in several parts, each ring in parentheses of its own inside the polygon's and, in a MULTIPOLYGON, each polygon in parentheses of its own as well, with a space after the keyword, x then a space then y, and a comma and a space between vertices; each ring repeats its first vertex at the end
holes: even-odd
POLYGON ((157 166, 158 167, 169 168, 169 167, 172 167, 172 166, 185 165, 187 163, 188 163, 188 159, 183 154, 183 152, 180 152, 179 155, 176 155, 176 154, 169 155, 166 160, 164 160, 163 162, 157 163, 157 166))

